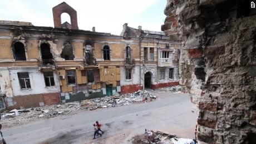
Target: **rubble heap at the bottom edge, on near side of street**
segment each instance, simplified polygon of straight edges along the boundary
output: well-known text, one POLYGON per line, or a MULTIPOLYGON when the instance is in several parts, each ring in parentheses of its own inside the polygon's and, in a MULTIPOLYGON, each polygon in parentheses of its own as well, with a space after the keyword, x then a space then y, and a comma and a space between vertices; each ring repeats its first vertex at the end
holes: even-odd
POLYGON ((178 138, 174 134, 168 134, 160 131, 147 131, 143 135, 136 135, 131 138, 132 144, 195 144, 196 140, 190 138, 178 138))

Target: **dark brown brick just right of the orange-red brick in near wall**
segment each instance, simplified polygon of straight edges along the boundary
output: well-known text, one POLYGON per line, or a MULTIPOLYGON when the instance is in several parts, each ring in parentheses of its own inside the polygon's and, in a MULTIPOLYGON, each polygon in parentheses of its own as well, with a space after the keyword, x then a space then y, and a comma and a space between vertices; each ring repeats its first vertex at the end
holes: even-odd
POLYGON ((225 53, 225 46, 219 47, 207 47, 204 51, 204 56, 207 58, 213 58, 214 56, 219 56, 225 53))

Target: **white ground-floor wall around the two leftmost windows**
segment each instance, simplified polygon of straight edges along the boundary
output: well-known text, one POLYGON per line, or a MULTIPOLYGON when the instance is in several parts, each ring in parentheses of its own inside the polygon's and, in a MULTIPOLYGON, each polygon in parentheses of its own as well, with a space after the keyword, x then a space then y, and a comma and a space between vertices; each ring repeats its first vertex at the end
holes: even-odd
POLYGON ((53 72, 53 77, 55 78, 55 86, 54 87, 46 87, 45 86, 45 78, 43 77, 43 73, 41 73, 38 69, 10 69, 10 79, 12 83, 13 96, 23 96, 23 95, 35 95, 40 93, 54 93, 58 92, 60 85, 57 80, 56 72, 53 72), (19 86, 18 80, 18 72, 28 72, 29 80, 31 84, 31 89, 22 90, 19 86))

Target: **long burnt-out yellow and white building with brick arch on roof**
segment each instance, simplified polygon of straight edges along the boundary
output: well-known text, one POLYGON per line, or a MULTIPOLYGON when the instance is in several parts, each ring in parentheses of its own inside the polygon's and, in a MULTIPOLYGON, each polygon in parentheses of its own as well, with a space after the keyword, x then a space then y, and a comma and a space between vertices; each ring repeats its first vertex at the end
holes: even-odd
POLYGON ((164 33, 127 24, 121 36, 84 31, 67 3, 52 12, 54 28, 0 21, 0 93, 9 109, 178 84, 180 43, 164 33), (61 22, 64 12, 71 23, 61 22))

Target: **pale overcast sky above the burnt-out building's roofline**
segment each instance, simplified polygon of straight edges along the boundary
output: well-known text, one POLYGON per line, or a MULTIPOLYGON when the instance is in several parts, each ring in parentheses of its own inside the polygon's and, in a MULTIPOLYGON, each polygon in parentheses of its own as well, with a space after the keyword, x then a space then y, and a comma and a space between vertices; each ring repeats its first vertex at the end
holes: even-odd
MULTIPOLYGON (((161 31, 164 24, 166 0, 8 0, 1 1, 0 19, 32 22, 35 26, 53 27, 52 7, 66 2, 77 11, 78 27, 97 32, 120 34, 122 25, 151 31, 161 31)), ((62 14, 62 23, 70 22, 68 14, 62 14)))

